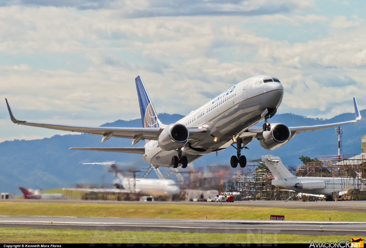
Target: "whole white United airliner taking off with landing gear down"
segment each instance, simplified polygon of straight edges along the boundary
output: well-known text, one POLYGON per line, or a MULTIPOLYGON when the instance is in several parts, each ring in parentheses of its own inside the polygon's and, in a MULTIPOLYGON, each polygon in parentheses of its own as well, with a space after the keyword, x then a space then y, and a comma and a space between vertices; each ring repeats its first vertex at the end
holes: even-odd
POLYGON ((154 167, 183 168, 199 157, 218 152, 236 144, 236 156, 232 156, 232 167, 245 167, 246 157, 241 150, 254 138, 266 150, 276 149, 298 133, 324 129, 357 122, 361 119, 354 98, 356 119, 316 126, 288 127, 282 123, 269 124, 268 118, 276 114, 283 98, 283 86, 275 77, 259 75, 244 80, 213 100, 190 112, 178 122, 164 125, 160 122, 140 76, 135 79, 140 104, 142 128, 132 127, 81 127, 19 121, 15 119, 7 102, 11 120, 15 124, 49 129, 89 133, 103 136, 102 142, 111 137, 131 138, 132 145, 146 140, 144 147, 70 148, 143 154, 143 159, 154 167), (265 120, 263 127, 254 125, 265 120))

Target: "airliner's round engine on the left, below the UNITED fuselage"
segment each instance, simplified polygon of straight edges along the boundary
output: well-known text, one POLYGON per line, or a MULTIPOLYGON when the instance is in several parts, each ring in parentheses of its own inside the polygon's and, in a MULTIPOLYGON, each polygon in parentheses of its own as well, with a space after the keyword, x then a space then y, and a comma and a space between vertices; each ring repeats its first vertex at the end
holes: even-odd
POLYGON ((164 128, 159 135, 158 145, 166 151, 175 150, 187 144, 189 131, 183 124, 175 123, 164 128))

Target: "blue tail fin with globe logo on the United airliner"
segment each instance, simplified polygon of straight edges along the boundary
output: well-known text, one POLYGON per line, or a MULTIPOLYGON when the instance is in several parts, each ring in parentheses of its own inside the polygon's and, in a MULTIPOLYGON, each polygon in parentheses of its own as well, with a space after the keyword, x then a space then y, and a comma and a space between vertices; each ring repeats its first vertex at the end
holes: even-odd
POLYGON ((154 109, 154 106, 147 94, 145 85, 142 82, 140 76, 135 78, 138 102, 140 104, 140 112, 142 119, 142 127, 161 127, 158 115, 154 109))

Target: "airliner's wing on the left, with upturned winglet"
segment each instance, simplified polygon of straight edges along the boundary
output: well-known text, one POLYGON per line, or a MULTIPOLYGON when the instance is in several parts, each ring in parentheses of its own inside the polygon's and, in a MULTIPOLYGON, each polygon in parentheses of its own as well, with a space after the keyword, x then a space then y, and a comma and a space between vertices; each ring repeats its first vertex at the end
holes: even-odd
POLYGON ((102 142, 107 141, 111 137, 131 138, 134 139, 134 141, 132 142, 132 144, 134 145, 140 140, 157 140, 161 131, 163 131, 163 129, 160 129, 158 127, 82 127, 19 121, 18 119, 15 119, 6 98, 5 101, 8 106, 11 121, 15 124, 100 135, 103 136, 102 142))

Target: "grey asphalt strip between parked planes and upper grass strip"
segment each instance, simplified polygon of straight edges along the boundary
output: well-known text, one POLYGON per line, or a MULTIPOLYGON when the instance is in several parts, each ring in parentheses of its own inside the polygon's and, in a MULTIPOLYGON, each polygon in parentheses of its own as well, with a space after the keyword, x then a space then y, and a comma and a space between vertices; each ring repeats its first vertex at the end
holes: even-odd
MULTIPOLYGON (((70 203, 100 203, 100 204, 189 204, 189 205, 221 205, 217 202, 125 202, 125 201, 84 201, 84 200, 25 200, 25 199, 8 199, 0 201, 13 202, 70 202, 70 203)), ((334 210, 366 213, 366 201, 336 201, 336 202, 302 202, 302 201, 236 201, 234 203, 223 202, 224 206, 240 206, 240 207, 281 207, 288 209, 311 209, 311 210, 334 210)))

